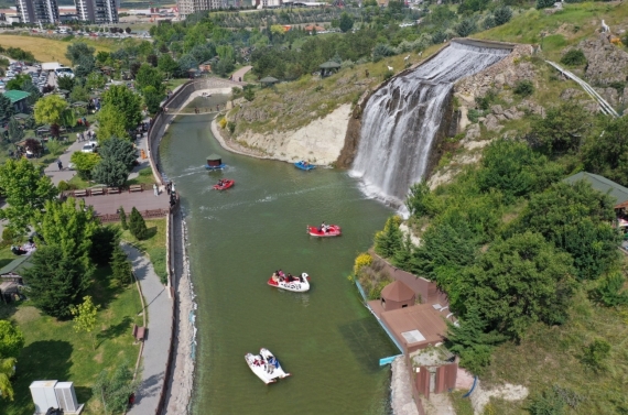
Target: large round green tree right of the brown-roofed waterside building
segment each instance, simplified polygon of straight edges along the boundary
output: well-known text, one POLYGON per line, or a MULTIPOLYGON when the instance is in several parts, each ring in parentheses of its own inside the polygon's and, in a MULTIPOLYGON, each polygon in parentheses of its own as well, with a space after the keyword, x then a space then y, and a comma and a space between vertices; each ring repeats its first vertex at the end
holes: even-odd
POLYGON ((519 339, 535 321, 566 320, 573 273, 567 253, 557 252, 539 233, 518 233, 495 241, 464 272, 465 288, 455 307, 476 306, 486 330, 519 339))

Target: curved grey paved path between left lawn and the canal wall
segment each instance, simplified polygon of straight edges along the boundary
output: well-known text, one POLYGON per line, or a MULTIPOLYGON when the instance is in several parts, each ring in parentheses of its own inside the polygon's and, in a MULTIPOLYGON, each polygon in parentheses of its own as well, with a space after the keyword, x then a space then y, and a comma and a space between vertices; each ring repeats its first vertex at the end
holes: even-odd
POLYGON ((136 404, 128 414, 154 414, 165 381, 173 305, 149 259, 133 247, 124 245, 123 249, 142 287, 149 317, 142 353, 142 382, 136 393, 136 404))

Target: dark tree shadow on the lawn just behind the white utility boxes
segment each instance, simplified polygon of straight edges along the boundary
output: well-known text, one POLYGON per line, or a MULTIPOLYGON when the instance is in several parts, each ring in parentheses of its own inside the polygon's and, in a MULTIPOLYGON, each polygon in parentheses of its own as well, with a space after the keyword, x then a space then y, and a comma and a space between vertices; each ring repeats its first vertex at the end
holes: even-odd
MULTIPOLYGON (((15 365, 15 401, 6 403, 7 414, 32 414, 35 406, 29 386, 37 380, 69 381, 73 346, 63 340, 35 341, 22 349, 15 365)), ((4 407, 2 408, 4 409, 4 407)))

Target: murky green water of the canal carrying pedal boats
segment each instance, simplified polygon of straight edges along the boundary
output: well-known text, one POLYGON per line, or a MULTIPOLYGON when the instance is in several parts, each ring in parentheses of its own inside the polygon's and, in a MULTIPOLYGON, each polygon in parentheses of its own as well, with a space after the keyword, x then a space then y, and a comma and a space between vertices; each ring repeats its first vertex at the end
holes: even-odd
MULTIPOLYGON (((219 99, 225 97, 197 98, 191 107, 219 99)), ((162 166, 182 195, 198 301, 193 413, 389 413, 390 369, 378 362, 398 351, 347 275, 391 210, 365 198, 346 172, 303 172, 225 151, 212 136, 212 118, 178 117, 160 148, 162 166), (229 167, 205 171, 210 153, 229 167), (213 190, 220 177, 236 185, 213 190), (305 233, 307 223, 323 220, 342 225, 344 234, 305 233), (307 272, 312 290, 268 286, 280 267, 307 272), (264 385, 243 359, 260 347, 273 351, 292 376, 264 385)))

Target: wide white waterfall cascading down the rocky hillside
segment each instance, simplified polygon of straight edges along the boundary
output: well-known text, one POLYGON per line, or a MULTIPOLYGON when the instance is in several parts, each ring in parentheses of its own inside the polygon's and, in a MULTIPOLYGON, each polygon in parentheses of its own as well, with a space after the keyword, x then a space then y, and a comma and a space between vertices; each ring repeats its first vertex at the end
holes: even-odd
POLYGON ((454 83, 509 53, 452 42, 431 61, 377 90, 362 113, 351 176, 364 179, 368 194, 402 206, 410 186, 429 168, 438 131, 447 127, 444 110, 454 83))

